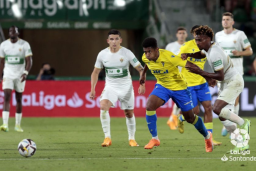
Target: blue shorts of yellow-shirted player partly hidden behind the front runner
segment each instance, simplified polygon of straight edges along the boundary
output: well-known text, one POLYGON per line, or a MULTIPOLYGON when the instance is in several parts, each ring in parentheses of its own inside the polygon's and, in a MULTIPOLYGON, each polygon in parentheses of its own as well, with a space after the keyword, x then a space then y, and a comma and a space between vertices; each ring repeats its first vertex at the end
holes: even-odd
POLYGON ((188 88, 192 94, 192 101, 194 106, 198 104, 198 100, 200 102, 211 100, 211 94, 207 82, 200 85, 188 86, 188 88))

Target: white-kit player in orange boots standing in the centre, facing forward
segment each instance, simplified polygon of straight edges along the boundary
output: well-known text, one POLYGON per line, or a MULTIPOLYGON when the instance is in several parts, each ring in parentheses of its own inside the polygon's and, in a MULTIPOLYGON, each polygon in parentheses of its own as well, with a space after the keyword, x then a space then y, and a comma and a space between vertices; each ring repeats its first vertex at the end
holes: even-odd
MULTIPOLYGON (((105 87, 100 95, 100 121, 105 138, 101 146, 111 145, 109 108, 114 107, 117 100, 120 101, 120 108, 124 110, 126 125, 128 129, 128 140, 130 146, 138 146, 135 141, 135 117, 134 92, 129 73, 131 64, 141 75, 143 66, 127 48, 120 46, 121 34, 118 30, 108 32, 107 43, 109 47, 98 53, 94 70, 91 73, 90 99, 95 98, 95 86, 98 80, 98 73, 104 67, 106 72, 105 87)), ((144 94, 145 86, 140 85, 138 94, 144 94)))

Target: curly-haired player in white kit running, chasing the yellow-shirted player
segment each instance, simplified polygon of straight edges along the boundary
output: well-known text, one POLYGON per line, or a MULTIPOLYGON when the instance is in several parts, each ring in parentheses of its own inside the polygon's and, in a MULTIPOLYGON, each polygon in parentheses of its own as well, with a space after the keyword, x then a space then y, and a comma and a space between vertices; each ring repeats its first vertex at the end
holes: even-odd
MULTIPOLYGON (((199 28, 196 28, 194 32, 196 45, 200 50, 205 50, 206 53, 204 54, 201 51, 198 51, 196 53, 181 54, 181 57, 183 59, 186 59, 187 56, 204 58, 206 55, 207 61, 212 70, 214 70, 214 73, 203 71, 197 65, 186 66, 186 68, 190 72, 199 74, 205 78, 212 78, 220 81, 218 97, 213 104, 214 113, 219 116, 219 119, 230 134, 236 129, 235 123, 237 123, 241 129, 245 129, 249 134, 250 120, 242 119, 225 107, 228 104, 232 104, 236 97, 242 92, 244 87, 242 76, 233 67, 229 55, 219 45, 212 41, 214 33, 210 27, 202 25, 199 28)), ((247 137, 244 137, 243 140, 246 139, 247 137)), ((249 145, 246 144, 239 148, 235 147, 234 150, 247 150, 248 148, 249 145)))

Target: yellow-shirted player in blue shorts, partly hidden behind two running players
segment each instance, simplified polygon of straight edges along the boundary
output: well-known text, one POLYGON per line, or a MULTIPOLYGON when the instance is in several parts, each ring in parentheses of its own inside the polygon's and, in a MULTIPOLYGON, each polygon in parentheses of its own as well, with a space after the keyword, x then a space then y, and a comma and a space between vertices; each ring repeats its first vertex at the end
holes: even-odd
MULTIPOLYGON (((190 33, 194 35, 193 30, 195 28, 198 28, 200 25, 194 25, 190 33)), ((194 53, 200 51, 197 47, 195 40, 192 39, 190 41, 185 42, 180 47, 179 51, 177 52, 178 56, 181 56, 182 53, 194 53)), ((193 57, 188 57, 188 61, 196 64, 199 66, 202 70, 204 67, 204 63, 206 61, 206 57, 201 59, 196 59, 193 57)), ((193 101, 193 112, 198 115, 199 114, 199 106, 198 101, 202 104, 204 108, 204 125, 207 130, 209 130, 212 133, 213 123, 212 123, 212 106, 211 106, 211 94, 210 90, 208 88, 208 83, 206 82, 205 78, 203 78, 201 75, 189 72, 186 68, 182 67, 181 73, 186 79, 187 86, 191 92, 192 95, 192 101, 193 101)), ((180 133, 184 132, 184 117, 182 115, 178 115, 178 131, 180 133)), ((214 139, 212 139, 214 145, 220 145, 221 142, 218 142, 214 139)))

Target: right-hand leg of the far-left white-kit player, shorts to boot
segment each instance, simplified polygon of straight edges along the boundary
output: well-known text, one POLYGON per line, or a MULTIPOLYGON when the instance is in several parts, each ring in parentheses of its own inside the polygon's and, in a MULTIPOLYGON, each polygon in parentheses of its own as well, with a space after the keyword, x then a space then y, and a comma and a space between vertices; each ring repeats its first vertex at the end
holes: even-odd
POLYGON ((21 117, 22 117, 22 92, 25 88, 25 81, 20 82, 20 79, 14 79, 14 89, 16 98, 16 113, 15 113, 15 127, 14 130, 17 132, 23 132, 20 127, 21 117))

